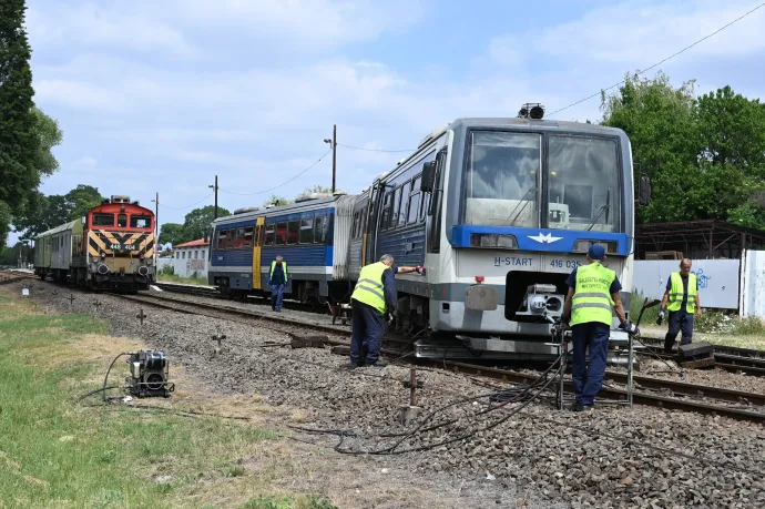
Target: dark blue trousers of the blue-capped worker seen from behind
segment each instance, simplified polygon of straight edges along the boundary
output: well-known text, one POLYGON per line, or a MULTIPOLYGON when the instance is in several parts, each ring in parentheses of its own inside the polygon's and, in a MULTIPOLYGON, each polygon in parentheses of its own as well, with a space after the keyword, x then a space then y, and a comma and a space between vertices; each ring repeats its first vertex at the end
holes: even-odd
POLYGON ((609 327, 605 324, 590 322, 571 327, 573 338, 573 365, 571 373, 574 383, 577 401, 592 405, 603 385, 605 362, 609 355, 609 327), (590 348, 590 363, 586 363, 586 349, 590 348))

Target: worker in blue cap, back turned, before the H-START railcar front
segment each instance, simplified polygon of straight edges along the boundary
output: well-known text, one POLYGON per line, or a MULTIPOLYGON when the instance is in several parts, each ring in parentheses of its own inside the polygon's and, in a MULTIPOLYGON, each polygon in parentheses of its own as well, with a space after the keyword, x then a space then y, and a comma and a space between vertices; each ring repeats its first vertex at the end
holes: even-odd
POLYGON ((571 377, 577 396, 574 411, 590 411, 603 385, 613 313, 615 312, 619 317, 620 328, 628 334, 638 334, 638 327, 630 323, 624 314, 619 295, 622 285, 616 273, 603 266, 603 246, 590 246, 586 261, 589 264, 574 268, 565 282, 569 285, 569 294, 565 296, 561 316, 564 323, 571 324, 573 339, 571 377))

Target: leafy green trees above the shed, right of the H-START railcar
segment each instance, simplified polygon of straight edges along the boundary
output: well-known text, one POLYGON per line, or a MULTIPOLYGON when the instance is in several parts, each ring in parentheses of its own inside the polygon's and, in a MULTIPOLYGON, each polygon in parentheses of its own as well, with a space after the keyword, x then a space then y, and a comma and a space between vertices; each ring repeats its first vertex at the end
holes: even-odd
MULTIPOLYGON (((666 75, 628 77, 602 96, 603 124, 624 130, 653 201, 639 222, 722 220, 765 227, 765 110, 730 86, 695 98, 666 75)), ((638 173, 638 172, 636 172, 638 173)), ((638 176, 638 174, 635 175, 638 176)))

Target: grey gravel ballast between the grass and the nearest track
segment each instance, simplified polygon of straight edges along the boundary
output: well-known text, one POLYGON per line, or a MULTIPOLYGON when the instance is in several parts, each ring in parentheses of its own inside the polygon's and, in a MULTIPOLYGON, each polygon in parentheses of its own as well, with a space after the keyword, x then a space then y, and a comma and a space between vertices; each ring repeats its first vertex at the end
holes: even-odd
MULTIPOLYGON (((13 285, 18 284, 9 286, 13 285)), ((348 370, 347 358, 332 355, 328 348, 279 346, 288 344, 288 335, 263 324, 178 314, 40 282, 33 286, 33 298, 57 312, 69 312, 70 293, 75 296, 74 313, 98 313, 114 334, 140 336, 165 349, 172 363, 185 366, 214 390, 257 393, 271 405, 305 410, 307 421, 300 427, 338 430, 335 435, 295 431, 306 440, 335 447, 338 435, 344 435, 343 450, 376 451, 398 440, 381 435, 407 431, 397 417, 408 401, 409 390, 401 385, 409 377, 408 367, 348 370), (98 312, 95 301, 102 303, 98 312), (139 307, 147 315, 143 329, 135 318, 139 307), (226 339, 223 352, 213 357, 210 336, 217 332, 226 339)), ((418 390, 424 415, 460 397, 491 391, 449 373, 418 369, 418 377, 424 383, 418 390)), ((758 387, 759 379, 745 378, 753 380, 746 388, 758 387)), ((511 415, 516 404, 479 415, 487 403, 483 398, 446 409, 432 420, 443 426, 406 438, 399 449, 437 445, 506 419, 492 429, 432 450, 358 458, 376 468, 432 479, 434 486, 448 478, 476 488, 472 496, 460 498, 459 507, 507 507, 523 502, 524 493, 530 493, 528 505, 519 507, 765 507, 759 474, 765 467, 765 434, 758 425, 649 407, 602 405, 582 415, 541 401, 516 415, 511 415)))

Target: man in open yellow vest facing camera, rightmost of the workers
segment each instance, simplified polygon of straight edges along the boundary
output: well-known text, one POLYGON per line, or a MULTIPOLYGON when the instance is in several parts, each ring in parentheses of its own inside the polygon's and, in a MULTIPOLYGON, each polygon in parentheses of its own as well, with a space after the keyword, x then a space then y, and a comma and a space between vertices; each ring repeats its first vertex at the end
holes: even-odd
POLYGON ((672 352, 682 332, 681 345, 687 345, 693 338, 693 317, 701 318, 701 301, 698 299, 698 281, 691 272, 691 259, 683 258, 680 262, 680 272, 670 274, 666 281, 666 291, 659 309, 657 325, 662 325, 666 312, 670 312, 670 327, 664 336, 664 352, 672 352), (667 304, 669 303, 669 304, 667 304))

